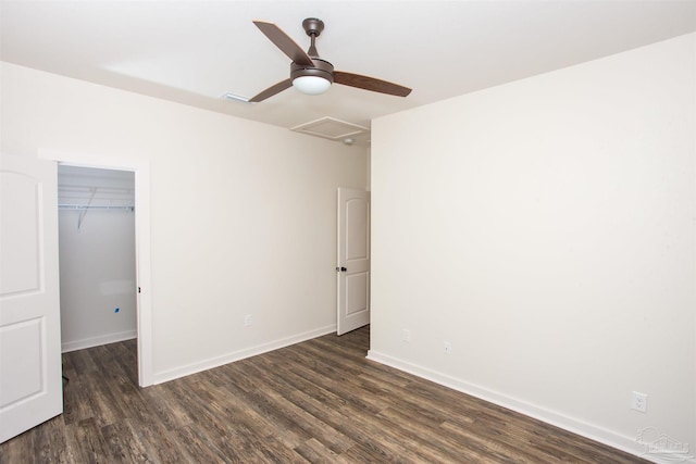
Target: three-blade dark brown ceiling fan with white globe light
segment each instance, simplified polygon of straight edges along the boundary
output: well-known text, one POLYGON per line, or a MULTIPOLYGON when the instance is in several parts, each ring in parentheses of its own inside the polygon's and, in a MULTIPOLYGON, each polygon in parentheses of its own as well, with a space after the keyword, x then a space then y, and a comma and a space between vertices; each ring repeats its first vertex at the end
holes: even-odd
POLYGON ((288 58, 293 60, 293 63, 290 63, 290 77, 288 79, 269 87, 261 93, 249 99, 250 102, 256 103, 263 101, 290 87, 297 88, 302 93, 320 95, 328 90, 328 87, 331 87, 333 83, 397 97, 406 97, 411 92, 411 89, 398 84, 374 77, 361 76, 360 74, 334 71, 334 66, 328 61, 319 57, 319 52, 314 46, 316 37, 324 30, 324 22, 316 17, 308 17, 302 22, 302 27, 312 39, 307 52, 275 24, 264 21, 254 21, 253 24, 256 24, 283 53, 287 54, 288 58))

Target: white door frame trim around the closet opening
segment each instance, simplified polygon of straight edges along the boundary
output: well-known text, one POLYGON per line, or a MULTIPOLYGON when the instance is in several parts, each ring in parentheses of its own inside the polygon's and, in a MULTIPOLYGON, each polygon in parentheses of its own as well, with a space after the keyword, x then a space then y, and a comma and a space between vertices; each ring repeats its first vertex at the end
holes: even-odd
MULTIPOLYGON (((138 385, 153 385, 152 368, 152 301, 151 301, 151 262, 150 262, 150 162, 145 159, 127 156, 105 156, 95 153, 80 153, 55 150, 38 150, 40 160, 79 167, 95 167, 135 173, 135 261, 137 344, 138 344, 138 385)), ((55 192, 58 197, 58 191, 55 192)))

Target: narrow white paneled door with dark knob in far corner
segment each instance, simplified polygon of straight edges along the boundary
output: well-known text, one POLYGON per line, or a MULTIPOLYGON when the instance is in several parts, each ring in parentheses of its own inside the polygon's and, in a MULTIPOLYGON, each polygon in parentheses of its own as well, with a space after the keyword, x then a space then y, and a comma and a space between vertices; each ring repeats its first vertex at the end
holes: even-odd
POLYGON ((338 335, 370 324, 370 193, 338 189, 338 335))

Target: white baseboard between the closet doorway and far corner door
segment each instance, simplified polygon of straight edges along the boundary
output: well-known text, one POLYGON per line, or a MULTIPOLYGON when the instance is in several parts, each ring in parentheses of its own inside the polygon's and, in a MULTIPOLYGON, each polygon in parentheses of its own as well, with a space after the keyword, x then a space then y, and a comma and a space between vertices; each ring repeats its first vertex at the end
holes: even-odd
POLYGON ((321 337, 323 335, 332 334, 335 331, 336 325, 334 324, 315 330, 297 334, 291 337, 282 338, 279 340, 270 341, 268 343, 258 344, 256 347, 245 348, 244 350, 235 351, 223 356, 212 358, 199 363, 188 364, 182 367, 156 373, 153 376, 152 385, 163 384, 165 381, 174 380, 179 377, 185 377, 187 375, 196 374, 202 371, 208 371, 214 367, 229 364, 235 361, 244 360, 246 358, 256 356, 258 354, 268 353, 269 351, 289 347, 290 344, 299 343, 301 341, 310 340, 312 338, 321 337))

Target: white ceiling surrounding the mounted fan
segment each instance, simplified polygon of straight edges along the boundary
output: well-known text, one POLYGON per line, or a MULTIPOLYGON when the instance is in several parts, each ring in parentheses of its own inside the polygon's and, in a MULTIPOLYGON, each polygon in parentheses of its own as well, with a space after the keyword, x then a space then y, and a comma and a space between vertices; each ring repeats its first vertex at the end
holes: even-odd
POLYGON ((221 113, 294 127, 373 117, 696 30, 696 0, 0 1, 3 61, 221 113), (276 23, 303 49, 306 17, 326 28, 336 70, 413 89, 407 98, 334 85, 287 89, 289 59, 252 24, 276 23))

